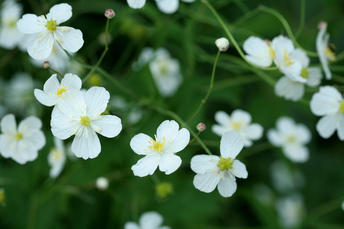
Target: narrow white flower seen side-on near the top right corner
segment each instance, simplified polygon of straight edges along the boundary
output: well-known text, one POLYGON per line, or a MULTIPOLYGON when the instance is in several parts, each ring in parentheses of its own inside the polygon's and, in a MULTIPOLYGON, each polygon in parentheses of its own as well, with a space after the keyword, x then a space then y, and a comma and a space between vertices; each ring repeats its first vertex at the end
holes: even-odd
POLYGON ((328 61, 336 60, 336 56, 331 50, 331 48, 328 46, 330 34, 326 33, 327 23, 320 22, 318 25, 318 28, 319 28, 319 33, 316 36, 315 47, 319 55, 320 63, 325 72, 326 79, 330 80, 332 79, 332 73, 329 69, 328 61))

